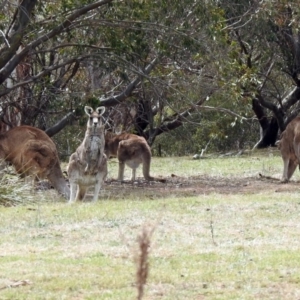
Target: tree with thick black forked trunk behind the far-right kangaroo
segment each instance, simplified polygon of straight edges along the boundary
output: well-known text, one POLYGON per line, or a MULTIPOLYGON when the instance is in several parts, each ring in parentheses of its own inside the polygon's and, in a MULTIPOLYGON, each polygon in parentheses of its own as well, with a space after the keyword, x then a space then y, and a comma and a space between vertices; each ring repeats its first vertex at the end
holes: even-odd
POLYGON ((228 47, 220 74, 237 104, 252 106, 258 148, 272 146, 300 109, 297 1, 218 1, 228 47))

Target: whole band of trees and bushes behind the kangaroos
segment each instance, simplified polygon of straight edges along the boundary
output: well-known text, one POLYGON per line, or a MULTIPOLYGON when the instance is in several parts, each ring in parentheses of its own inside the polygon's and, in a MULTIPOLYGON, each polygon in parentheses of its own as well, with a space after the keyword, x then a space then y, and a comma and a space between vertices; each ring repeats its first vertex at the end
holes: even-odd
POLYGON ((154 155, 273 146, 300 109, 296 0, 1 0, 0 130, 67 157, 83 107, 154 155))

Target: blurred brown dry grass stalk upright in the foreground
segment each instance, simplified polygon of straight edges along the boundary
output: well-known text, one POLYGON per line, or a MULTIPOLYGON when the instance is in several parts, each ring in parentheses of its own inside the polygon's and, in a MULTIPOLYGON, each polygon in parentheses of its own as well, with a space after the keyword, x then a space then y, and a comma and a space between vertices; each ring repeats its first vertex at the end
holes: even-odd
POLYGON ((149 251, 151 236, 154 227, 143 228, 142 233, 138 236, 139 253, 137 257, 136 286, 138 290, 137 300, 141 300, 144 295, 144 288, 147 283, 149 274, 149 251))

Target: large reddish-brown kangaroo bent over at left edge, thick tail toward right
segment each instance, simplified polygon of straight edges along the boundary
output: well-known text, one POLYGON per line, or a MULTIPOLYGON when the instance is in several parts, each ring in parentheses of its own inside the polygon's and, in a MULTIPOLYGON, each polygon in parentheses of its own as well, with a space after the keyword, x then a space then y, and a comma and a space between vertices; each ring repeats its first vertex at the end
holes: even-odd
POLYGON ((60 168, 56 146, 42 130, 31 126, 18 126, 0 134, 2 168, 11 163, 21 176, 47 178, 65 198, 70 190, 60 168))

